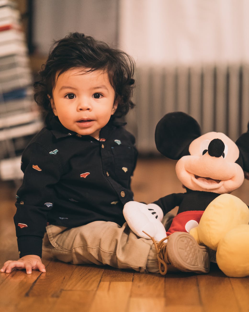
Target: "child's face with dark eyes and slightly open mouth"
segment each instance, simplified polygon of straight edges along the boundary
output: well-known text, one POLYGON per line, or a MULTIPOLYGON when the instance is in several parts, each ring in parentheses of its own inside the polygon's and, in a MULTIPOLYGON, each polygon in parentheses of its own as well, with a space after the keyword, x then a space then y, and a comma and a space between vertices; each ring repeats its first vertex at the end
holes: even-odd
POLYGON ((65 71, 56 80, 50 98, 54 115, 68 130, 99 139, 100 129, 115 113, 118 102, 104 71, 84 68, 65 71))

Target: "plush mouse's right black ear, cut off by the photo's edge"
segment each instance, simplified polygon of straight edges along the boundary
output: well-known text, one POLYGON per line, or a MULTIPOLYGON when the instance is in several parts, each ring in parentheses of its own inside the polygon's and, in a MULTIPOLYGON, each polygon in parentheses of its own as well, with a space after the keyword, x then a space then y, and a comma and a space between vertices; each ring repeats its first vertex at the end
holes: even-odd
POLYGON ((235 144, 239 148, 239 158, 236 163, 238 163, 244 171, 249 172, 249 132, 243 133, 235 144))

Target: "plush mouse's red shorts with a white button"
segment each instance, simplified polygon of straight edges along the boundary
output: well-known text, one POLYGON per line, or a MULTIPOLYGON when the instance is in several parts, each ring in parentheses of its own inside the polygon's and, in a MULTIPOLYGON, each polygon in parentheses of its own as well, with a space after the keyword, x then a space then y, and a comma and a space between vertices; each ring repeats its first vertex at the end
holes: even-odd
POLYGON ((171 226, 167 231, 167 235, 170 235, 174 232, 189 233, 191 228, 198 226, 203 212, 203 210, 180 212, 176 215, 176 217, 173 218, 171 226))

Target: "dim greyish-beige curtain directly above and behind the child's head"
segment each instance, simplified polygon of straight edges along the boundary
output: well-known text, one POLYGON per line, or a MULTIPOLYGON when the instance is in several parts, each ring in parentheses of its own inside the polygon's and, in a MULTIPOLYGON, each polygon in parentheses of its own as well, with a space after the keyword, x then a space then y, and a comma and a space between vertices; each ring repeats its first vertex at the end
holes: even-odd
POLYGON ((119 0, 34 0, 34 44, 47 55, 54 40, 83 32, 109 44, 117 43, 119 0))

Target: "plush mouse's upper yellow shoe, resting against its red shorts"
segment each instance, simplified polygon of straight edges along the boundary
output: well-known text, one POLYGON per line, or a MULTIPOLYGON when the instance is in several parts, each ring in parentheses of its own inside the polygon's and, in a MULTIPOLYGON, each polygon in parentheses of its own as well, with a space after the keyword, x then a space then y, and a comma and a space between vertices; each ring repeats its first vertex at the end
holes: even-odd
POLYGON ((236 196, 222 194, 205 209, 198 227, 190 230, 199 245, 217 250, 219 241, 234 227, 249 223, 249 209, 236 196))

